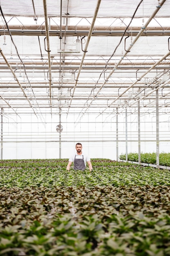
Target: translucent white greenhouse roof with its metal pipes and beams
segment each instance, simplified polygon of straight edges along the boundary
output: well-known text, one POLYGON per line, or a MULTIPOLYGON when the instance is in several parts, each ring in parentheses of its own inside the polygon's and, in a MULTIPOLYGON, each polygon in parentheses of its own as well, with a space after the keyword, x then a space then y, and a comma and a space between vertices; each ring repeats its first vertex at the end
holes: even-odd
POLYGON ((4 112, 170 107, 170 0, 7 0, 0 12, 4 112))

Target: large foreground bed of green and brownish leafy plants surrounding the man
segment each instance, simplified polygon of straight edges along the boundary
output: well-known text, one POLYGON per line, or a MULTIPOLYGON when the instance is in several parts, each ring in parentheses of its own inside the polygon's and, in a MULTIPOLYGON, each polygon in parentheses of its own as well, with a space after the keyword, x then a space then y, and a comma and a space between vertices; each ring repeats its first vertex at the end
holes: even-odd
POLYGON ((0 255, 170 255, 169 171, 45 161, 1 165, 0 255))

